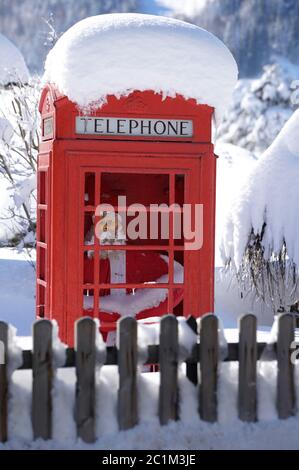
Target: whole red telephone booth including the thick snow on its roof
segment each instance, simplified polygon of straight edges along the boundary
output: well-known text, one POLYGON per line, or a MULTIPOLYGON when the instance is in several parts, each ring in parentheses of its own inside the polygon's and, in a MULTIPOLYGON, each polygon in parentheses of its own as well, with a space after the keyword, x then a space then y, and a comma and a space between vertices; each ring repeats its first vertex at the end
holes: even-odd
POLYGON ((46 61, 40 101, 37 315, 74 321, 213 311, 212 123, 237 79, 221 41, 182 21, 87 18, 46 61))

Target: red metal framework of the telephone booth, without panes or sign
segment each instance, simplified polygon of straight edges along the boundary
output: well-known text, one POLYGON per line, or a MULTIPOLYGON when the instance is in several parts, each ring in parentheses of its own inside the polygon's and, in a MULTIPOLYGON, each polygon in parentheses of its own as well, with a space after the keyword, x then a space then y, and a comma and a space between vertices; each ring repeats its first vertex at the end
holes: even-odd
MULTIPOLYGON (((76 106, 47 85, 40 102, 42 119, 53 117, 53 138, 44 138, 38 161, 37 221, 37 315, 57 319, 64 341, 73 344, 73 323, 85 314, 83 291, 94 291, 93 315, 97 316, 99 292, 111 288, 167 288, 167 311, 174 311, 174 293, 184 293, 183 314, 202 315, 213 311, 214 230, 216 158, 211 143, 213 109, 182 97, 163 100, 151 91, 134 92, 126 98, 109 97, 96 116, 159 117, 192 119, 194 136, 186 139, 140 137, 78 136, 75 134, 76 106), (42 173, 45 172, 45 173, 42 173), (84 174, 95 174, 95 200, 84 204, 84 174), (166 174, 169 177, 169 203, 175 202, 175 175, 185 175, 184 202, 204 206, 204 244, 200 250, 184 251, 173 240, 170 214, 168 243, 121 245, 126 252, 167 251, 166 284, 100 284, 99 245, 84 245, 84 214, 100 201, 101 173, 166 174), (44 175, 43 177, 41 175, 44 175), (45 186, 45 187, 43 187, 45 186), (45 200, 42 194, 45 193, 45 200), (43 216, 45 221, 43 221, 43 216), (44 232, 44 233, 42 233, 44 232), (93 284, 84 284, 83 253, 94 251, 93 284), (40 250, 44 250, 41 256, 40 250), (174 283, 175 253, 184 251, 184 283, 174 283)), ((138 181, 136 181, 138 184, 138 181)), ((142 191, 143 188, 140 188, 142 191)), ((138 202, 138 201, 136 201, 138 202)), ((146 209, 148 210, 148 209, 146 209)), ((105 246, 106 250, 120 246, 105 246)), ((106 325, 106 331, 115 324, 106 325)))

